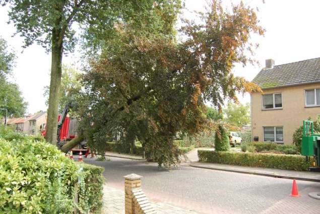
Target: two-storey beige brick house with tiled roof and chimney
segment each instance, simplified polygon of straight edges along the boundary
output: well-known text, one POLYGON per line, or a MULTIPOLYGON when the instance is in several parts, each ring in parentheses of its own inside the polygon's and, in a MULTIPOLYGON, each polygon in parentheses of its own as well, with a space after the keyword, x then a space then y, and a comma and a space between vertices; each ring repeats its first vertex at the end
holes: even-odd
POLYGON ((320 58, 283 65, 266 60, 252 82, 263 90, 250 94, 253 141, 291 144, 302 121, 320 115, 320 58))

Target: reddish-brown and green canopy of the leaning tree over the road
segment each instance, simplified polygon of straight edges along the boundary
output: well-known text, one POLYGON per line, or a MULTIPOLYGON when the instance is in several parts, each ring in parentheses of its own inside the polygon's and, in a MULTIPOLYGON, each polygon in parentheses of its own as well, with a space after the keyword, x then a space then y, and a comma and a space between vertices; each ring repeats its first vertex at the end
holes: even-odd
POLYGON ((203 24, 186 22, 180 29, 183 42, 118 28, 83 77, 78 113, 91 146, 103 147, 118 135, 130 148, 138 138, 149 158, 173 165, 176 133, 206 126, 206 101, 220 107, 226 99, 236 101, 236 92, 259 90, 231 72, 235 63, 251 61, 250 34, 264 33, 254 11, 240 4, 225 12, 213 1, 202 18, 203 24))

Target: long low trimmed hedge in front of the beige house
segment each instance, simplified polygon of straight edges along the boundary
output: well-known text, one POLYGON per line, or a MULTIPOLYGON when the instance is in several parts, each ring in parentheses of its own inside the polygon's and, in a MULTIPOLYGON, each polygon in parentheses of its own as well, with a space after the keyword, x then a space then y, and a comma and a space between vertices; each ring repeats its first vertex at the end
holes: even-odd
POLYGON ((198 157, 200 162, 297 171, 307 171, 313 162, 306 162, 302 155, 209 150, 198 150, 198 157))

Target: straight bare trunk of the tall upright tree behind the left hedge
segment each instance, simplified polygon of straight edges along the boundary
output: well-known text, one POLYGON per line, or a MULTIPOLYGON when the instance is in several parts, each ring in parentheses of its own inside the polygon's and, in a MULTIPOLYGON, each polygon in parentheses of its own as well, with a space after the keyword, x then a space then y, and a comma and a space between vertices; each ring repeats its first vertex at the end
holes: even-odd
POLYGON ((52 30, 52 56, 51 56, 51 75, 50 75, 50 91, 49 106, 46 127, 46 140, 56 145, 56 134, 58 124, 58 103, 61 85, 61 62, 63 52, 63 42, 59 40, 59 30, 52 30))

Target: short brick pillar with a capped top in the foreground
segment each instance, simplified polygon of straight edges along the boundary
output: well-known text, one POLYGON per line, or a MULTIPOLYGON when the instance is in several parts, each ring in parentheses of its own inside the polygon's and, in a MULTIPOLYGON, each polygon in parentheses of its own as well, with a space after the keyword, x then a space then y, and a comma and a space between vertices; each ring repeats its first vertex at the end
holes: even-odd
POLYGON ((125 214, 135 214, 137 207, 135 207, 133 190, 141 187, 142 176, 130 174, 124 178, 124 201, 125 201, 125 214))

